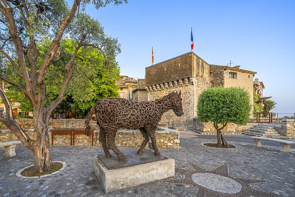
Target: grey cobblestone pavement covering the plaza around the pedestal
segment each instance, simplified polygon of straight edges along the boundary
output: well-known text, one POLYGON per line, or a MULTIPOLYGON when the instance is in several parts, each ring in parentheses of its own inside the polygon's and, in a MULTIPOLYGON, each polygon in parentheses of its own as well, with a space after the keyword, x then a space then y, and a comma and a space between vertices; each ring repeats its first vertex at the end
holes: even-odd
MULTIPOLYGON (((213 172, 218 166, 228 163, 229 177, 235 177, 235 180, 243 178, 269 181, 251 184, 253 191, 265 192, 270 196, 295 196, 294 152, 282 153, 278 148, 255 148, 253 144, 234 141, 229 142, 237 146, 235 149, 217 149, 201 145, 203 142, 216 142, 213 139, 181 138, 180 141, 179 148, 159 148, 162 155, 175 159, 177 169, 193 170, 191 164, 194 164, 208 170, 207 172, 213 172)), ((124 152, 138 148, 119 149, 124 152)), ((19 169, 34 162, 32 153, 23 146, 16 147, 17 156, 0 158, 0 196, 203 197, 204 194, 200 190, 198 192, 199 187, 194 184, 165 182, 153 182, 104 194, 94 174, 93 165, 93 156, 103 154, 101 147, 55 145, 51 150, 52 160, 64 161, 67 167, 44 178, 23 179, 15 175, 19 169)), ((1 148, 0 155, 3 154, 4 148, 1 148)), ((176 178, 181 178, 181 175, 176 174, 176 178)), ((210 196, 210 190, 208 191, 210 196)), ((240 196, 237 193, 219 194, 220 197, 240 196)))

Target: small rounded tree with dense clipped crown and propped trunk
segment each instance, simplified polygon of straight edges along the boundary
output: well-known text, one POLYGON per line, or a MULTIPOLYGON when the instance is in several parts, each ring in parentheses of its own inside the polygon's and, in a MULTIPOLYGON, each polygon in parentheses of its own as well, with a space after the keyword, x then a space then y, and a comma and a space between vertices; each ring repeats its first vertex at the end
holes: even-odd
POLYGON ((199 121, 213 122, 217 131, 218 147, 221 147, 222 141, 222 144, 229 148, 221 130, 228 123, 246 125, 250 111, 250 95, 240 87, 213 87, 204 90, 197 105, 199 121))

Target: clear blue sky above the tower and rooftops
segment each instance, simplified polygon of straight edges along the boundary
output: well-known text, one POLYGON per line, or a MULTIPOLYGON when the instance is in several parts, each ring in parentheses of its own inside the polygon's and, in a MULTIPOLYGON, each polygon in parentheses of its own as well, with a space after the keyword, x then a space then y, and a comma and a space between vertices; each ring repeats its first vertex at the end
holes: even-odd
POLYGON ((129 0, 86 12, 116 37, 121 75, 145 77, 151 65, 191 51, 209 64, 255 71, 263 96, 277 103, 273 112, 295 112, 295 1, 129 0))

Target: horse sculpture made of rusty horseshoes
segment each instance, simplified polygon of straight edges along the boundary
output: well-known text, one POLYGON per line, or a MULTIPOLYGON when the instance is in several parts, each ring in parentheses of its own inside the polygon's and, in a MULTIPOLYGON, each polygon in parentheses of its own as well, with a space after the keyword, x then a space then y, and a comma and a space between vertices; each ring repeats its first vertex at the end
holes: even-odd
POLYGON ((112 155, 109 149, 114 151, 119 158, 119 162, 125 163, 127 160, 115 145, 117 130, 139 129, 145 138, 137 151, 142 154, 143 148, 149 139, 152 141, 155 156, 160 156, 156 144, 155 130, 163 113, 172 109, 177 116, 183 115, 181 91, 172 92, 160 99, 148 102, 135 102, 124 98, 104 98, 96 102, 94 108, 86 116, 85 134, 90 135, 90 123, 92 114, 96 112, 96 123, 99 125, 99 141, 104 149, 105 157, 112 155))

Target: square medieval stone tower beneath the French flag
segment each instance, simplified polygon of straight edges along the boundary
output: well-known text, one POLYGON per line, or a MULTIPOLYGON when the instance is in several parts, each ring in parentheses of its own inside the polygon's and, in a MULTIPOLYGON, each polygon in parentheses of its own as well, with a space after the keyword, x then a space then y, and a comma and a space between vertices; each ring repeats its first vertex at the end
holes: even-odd
POLYGON ((181 90, 184 115, 178 117, 170 110, 159 124, 192 126, 198 97, 209 88, 209 64, 189 52, 145 68, 145 75, 149 101, 181 90))

